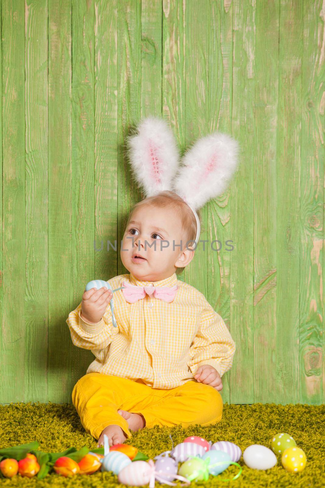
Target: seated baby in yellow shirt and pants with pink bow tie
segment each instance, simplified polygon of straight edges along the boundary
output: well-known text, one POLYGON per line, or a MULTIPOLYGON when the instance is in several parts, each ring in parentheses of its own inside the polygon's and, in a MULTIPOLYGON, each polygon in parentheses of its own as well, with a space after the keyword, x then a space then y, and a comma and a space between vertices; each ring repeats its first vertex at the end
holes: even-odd
POLYGON ((84 291, 67 324, 72 342, 95 360, 78 380, 72 400, 83 427, 103 445, 143 427, 219 422, 222 375, 235 344, 223 319, 196 288, 177 275, 191 262, 196 220, 172 191, 136 203, 120 256, 128 274, 111 290, 84 291), (130 293, 131 290, 131 293, 130 293), (134 293, 135 292, 135 293, 134 293))

